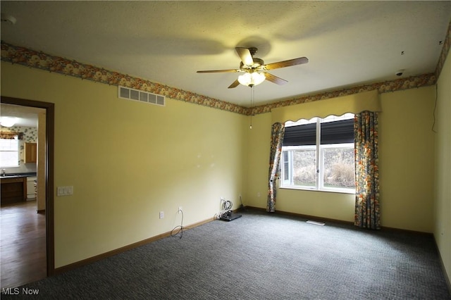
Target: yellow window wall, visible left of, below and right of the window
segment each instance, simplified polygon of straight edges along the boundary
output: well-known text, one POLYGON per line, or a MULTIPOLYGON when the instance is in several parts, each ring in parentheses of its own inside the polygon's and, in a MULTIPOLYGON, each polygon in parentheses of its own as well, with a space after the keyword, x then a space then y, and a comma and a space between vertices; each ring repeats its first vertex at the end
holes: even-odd
MULTIPOLYGON (((434 87, 381 94, 379 167, 385 227, 433 230, 434 95, 434 87)), ((253 123, 246 204, 265 208, 271 113, 255 116, 253 123)), ((278 189, 276 210, 352 222, 354 195, 278 189)))

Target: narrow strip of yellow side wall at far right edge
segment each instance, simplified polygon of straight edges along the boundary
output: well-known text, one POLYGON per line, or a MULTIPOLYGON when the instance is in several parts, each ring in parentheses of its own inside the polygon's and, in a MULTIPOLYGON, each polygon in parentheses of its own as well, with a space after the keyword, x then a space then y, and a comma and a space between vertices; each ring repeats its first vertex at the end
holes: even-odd
POLYGON ((451 282, 451 54, 437 84, 434 237, 451 282))

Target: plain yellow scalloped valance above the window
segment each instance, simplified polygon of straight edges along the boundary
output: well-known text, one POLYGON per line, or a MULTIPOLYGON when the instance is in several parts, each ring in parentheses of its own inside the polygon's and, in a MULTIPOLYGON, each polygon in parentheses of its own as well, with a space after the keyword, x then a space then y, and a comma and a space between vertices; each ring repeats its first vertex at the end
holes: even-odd
POLYGON ((381 101, 376 89, 369 92, 273 108, 271 115, 273 123, 285 123, 288 120, 310 120, 313 117, 326 118, 328 115, 356 114, 362 111, 382 111, 381 101))

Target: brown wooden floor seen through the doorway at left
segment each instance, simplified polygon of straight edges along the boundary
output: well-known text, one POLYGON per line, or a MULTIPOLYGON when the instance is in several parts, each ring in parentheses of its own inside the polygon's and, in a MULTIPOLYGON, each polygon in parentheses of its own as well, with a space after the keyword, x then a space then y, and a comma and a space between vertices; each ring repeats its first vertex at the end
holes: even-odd
POLYGON ((1 206, 1 288, 47 277, 45 215, 36 208, 36 201, 1 206))

